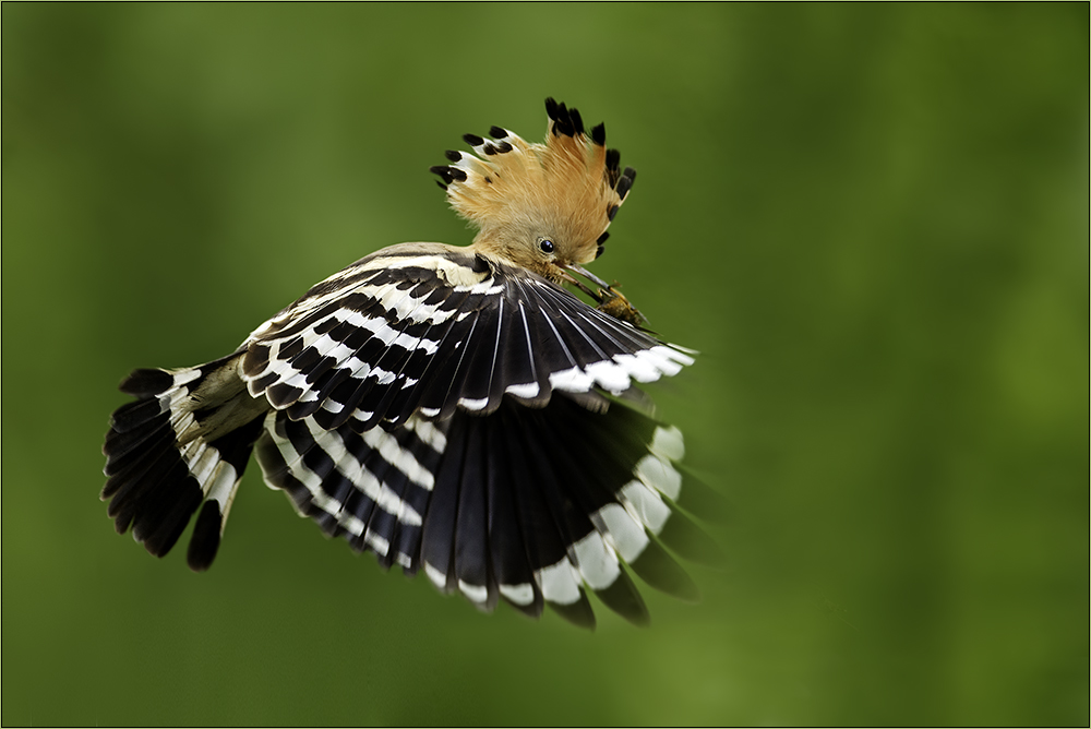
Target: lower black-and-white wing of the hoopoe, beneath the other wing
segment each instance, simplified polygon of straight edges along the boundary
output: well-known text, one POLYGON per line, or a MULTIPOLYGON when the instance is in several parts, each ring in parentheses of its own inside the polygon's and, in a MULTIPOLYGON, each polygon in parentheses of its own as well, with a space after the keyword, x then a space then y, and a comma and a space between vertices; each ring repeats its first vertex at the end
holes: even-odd
POLYGON ((385 566, 423 570, 482 609, 503 598, 537 616, 549 603, 584 625, 595 621, 587 589, 647 621, 628 569, 695 597, 660 546, 675 546, 668 524, 693 533, 674 507, 682 452, 681 433, 643 413, 618 402, 589 411, 564 395, 363 433, 274 411, 257 444, 265 479, 301 515, 385 566))

